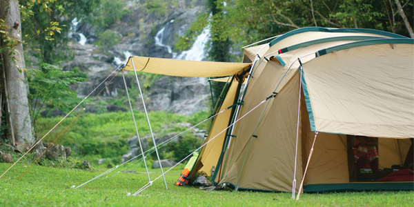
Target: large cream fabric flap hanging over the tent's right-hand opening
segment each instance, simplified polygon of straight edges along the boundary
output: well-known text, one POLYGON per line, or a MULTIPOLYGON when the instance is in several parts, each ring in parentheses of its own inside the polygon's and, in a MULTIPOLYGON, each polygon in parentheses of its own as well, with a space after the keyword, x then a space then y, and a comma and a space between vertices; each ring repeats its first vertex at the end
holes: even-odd
POLYGON ((414 137, 414 70, 407 61, 412 57, 413 44, 380 44, 304 63, 312 130, 414 137))

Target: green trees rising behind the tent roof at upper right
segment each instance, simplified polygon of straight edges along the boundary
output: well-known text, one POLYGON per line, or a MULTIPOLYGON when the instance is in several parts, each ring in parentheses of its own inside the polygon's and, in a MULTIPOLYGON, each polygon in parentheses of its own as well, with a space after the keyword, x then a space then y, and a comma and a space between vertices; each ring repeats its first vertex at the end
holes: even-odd
MULTIPOLYGON (((211 0, 209 0, 211 1, 211 0)), ((401 1, 408 21, 414 24, 414 3, 401 1)), ((380 0, 306 0, 306 1, 252 1, 217 0, 217 9, 223 11, 206 19, 206 11, 193 22, 177 43, 185 48, 194 41, 198 25, 217 25, 218 40, 230 38, 235 44, 249 44, 296 28, 319 26, 327 28, 370 28, 402 34, 408 37, 403 19, 397 14, 395 1, 380 0), (223 16, 224 14, 224 16, 223 16), (207 22, 207 23, 206 23, 207 22)))

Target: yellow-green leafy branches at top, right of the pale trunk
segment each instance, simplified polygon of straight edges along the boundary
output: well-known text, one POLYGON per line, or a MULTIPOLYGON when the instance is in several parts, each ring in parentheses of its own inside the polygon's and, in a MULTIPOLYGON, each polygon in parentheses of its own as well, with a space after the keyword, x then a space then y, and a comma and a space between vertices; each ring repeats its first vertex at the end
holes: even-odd
POLYGON ((56 63, 68 59, 68 32, 75 17, 88 16, 99 0, 20 0, 23 41, 26 52, 37 55, 43 62, 56 63))

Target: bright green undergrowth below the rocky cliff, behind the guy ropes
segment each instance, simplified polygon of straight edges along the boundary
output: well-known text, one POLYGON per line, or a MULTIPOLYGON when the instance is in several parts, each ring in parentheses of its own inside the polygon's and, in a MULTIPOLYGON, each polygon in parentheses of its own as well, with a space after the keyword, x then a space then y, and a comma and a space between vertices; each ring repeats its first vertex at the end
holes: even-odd
MULTIPOLYGON (((135 110, 134 115, 140 137, 150 134, 145 113, 135 110)), ((195 125, 209 115, 209 112, 201 111, 190 116, 179 116, 168 112, 150 112, 148 116, 150 117, 152 130, 155 132, 155 138, 159 138, 177 118, 179 118, 177 123, 188 122, 195 125)), ((74 118, 71 116, 63 120, 43 141, 50 142, 54 140, 74 118)), ((61 119, 62 117, 37 119, 35 128, 37 135, 43 137, 61 119)), ((205 121, 204 124, 197 127, 204 129, 207 124, 208 121, 205 121)), ((175 125, 168 130, 168 133, 179 133, 186 129, 175 125)), ((70 146, 81 157, 99 155, 99 158, 112 158, 120 161, 121 156, 128 151, 126 140, 134 135, 136 135, 135 125, 130 112, 85 113, 76 119, 55 144, 70 146)), ((192 136, 191 131, 182 135, 182 137, 192 136)))

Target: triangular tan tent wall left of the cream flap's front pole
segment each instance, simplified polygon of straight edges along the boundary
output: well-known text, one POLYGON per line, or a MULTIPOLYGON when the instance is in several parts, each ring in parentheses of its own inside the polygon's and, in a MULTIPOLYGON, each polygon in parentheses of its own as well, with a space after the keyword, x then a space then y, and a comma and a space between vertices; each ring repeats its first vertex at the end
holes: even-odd
MULTIPOLYGON (((299 95, 299 77, 293 79, 282 88, 270 103, 270 110, 257 128, 257 137, 236 137, 234 143, 244 144, 237 160, 229 166, 227 175, 221 183, 237 185, 239 188, 291 191, 293 181, 293 163, 295 162, 295 135, 297 128, 297 101, 299 95), (287 109, 288 108, 288 109, 287 109), (286 112, 287 111, 287 112, 286 112), (272 139, 269 139, 272 137, 272 139), (252 144, 248 149, 250 138, 252 144), (245 139, 239 141, 239 139, 245 139), (246 155, 247 152, 247 155, 246 155), (279 152, 279 153, 270 153, 279 152), (244 157, 246 155, 246 161, 244 157), (243 165, 243 162, 244 165, 243 165), (242 166, 244 166, 242 168, 242 166), (239 176, 239 172, 242 173, 239 176)), ((251 123, 253 126, 256 124, 251 123)), ((299 147, 298 157, 301 157, 299 147)), ((297 166, 296 179, 302 179, 302 164, 297 166)), ((296 186, 299 190, 299 184, 296 186)))

